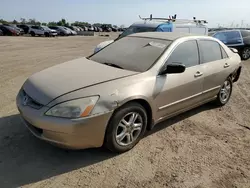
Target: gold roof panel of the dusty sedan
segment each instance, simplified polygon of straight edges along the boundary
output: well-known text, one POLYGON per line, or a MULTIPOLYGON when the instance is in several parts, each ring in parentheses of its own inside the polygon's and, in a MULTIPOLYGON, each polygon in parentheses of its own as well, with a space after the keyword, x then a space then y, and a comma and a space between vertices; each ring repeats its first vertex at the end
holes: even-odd
POLYGON ((182 37, 189 37, 189 36, 203 36, 199 34, 191 34, 191 33, 181 33, 181 32, 144 32, 144 33, 135 33, 129 35, 128 37, 144 37, 144 38, 155 38, 155 39, 165 39, 165 40, 176 40, 182 37))

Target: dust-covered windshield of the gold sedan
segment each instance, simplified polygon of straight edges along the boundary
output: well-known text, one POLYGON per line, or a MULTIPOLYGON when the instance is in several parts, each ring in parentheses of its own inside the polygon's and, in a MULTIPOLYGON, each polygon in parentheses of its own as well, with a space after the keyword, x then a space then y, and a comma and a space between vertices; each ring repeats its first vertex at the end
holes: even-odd
POLYGON ((136 72, 151 68, 170 40, 124 37, 93 54, 89 59, 136 72))

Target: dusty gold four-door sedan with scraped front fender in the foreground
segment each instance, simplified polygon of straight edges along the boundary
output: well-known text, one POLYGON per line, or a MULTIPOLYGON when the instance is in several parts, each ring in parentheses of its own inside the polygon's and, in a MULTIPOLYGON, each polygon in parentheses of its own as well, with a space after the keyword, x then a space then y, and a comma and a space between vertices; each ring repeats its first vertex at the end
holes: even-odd
POLYGON ((167 118, 210 101, 225 105, 240 71, 239 55, 213 37, 137 33, 32 75, 16 104, 37 138, 122 153, 167 118))

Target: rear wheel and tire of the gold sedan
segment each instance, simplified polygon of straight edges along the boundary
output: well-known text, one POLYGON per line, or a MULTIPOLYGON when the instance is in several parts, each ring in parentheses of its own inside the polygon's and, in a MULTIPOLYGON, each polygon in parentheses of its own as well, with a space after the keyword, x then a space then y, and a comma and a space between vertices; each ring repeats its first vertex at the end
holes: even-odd
POLYGON ((223 83, 219 93, 217 94, 217 98, 215 100, 218 106, 224 106, 230 99, 233 91, 233 82, 230 77, 228 77, 223 83))

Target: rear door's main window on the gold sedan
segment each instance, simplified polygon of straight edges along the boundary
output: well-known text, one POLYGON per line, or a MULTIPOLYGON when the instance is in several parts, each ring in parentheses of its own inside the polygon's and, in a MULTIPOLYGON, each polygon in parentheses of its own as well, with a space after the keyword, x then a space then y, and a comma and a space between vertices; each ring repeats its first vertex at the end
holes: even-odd
POLYGON ((203 63, 221 59, 221 47, 218 42, 210 40, 198 41, 203 63))

